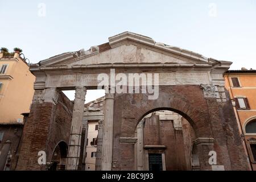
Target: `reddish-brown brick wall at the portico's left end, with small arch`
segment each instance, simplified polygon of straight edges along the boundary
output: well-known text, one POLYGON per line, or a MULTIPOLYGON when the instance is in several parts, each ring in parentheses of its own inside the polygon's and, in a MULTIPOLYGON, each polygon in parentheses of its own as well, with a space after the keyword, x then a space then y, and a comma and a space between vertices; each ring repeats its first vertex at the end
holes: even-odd
POLYGON ((62 92, 58 94, 57 103, 53 104, 36 102, 40 92, 35 92, 16 170, 46 170, 45 165, 38 164, 38 152, 46 151, 46 161, 50 162, 57 143, 68 143, 73 103, 62 92))

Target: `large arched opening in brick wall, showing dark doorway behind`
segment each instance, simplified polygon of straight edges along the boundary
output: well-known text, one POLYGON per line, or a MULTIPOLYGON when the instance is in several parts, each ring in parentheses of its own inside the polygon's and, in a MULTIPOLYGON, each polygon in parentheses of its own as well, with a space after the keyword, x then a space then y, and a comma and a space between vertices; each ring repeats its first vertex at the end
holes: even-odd
POLYGON ((137 170, 200 169, 192 126, 192 119, 170 108, 158 108, 143 114, 135 130, 137 170))

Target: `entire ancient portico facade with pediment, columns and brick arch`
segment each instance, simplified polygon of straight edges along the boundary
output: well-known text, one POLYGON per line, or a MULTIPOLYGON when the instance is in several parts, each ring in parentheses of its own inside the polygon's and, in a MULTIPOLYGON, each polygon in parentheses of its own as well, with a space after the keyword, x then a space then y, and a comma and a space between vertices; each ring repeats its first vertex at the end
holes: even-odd
MULTIPOLYGON (((67 155, 63 154, 67 161, 65 169, 80 169, 81 164, 85 164, 86 154, 86 145, 83 145, 86 142, 82 140, 88 138, 88 125, 84 123, 86 90, 103 87, 106 90, 104 121, 96 119, 99 122, 97 153, 101 153, 96 155, 96 168, 141 170, 144 164, 137 156, 142 150, 135 148, 143 132, 137 127, 153 111, 168 110, 181 115, 193 128, 195 146, 192 148, 195 150, 192 154, 198 159, 195 160, 198 170, 248 170, 232 101, 224 87, 223 74, 231 64, 132 32, 112 36, 108 43, 92 46, 88 51, 66 52, 32 64, 30 71, 36 76, 35 93, 30 116, 24 125, 16 169, 45 170, 46 164, 38 163, 38 152, 46 152, 46 163, 50 162, 60 140, 68 142, 67 155), (134 75, 144 76, 148 82, 141 78, 142 81, 137 80, 136 87, 132 88, 125 79, 133 81, 134 75), (104 86, 99 76, 104 79, 104 86), (121 80, 123 92, 111 92, 117 88, 115 83, 121 80), (146 85, 149 89, 144 89, 146 85), (67 107, 59 100, 61 90, 75 90, 73 106, 67 107), (54 125, 59 126, 56 118, 64 116, 68 116, 69 130, 49 132, 54 125), (102 138, 100 150, 99 138, 102 138), (214 163, 209 163, 209 155, 216 157, 214 163)), ((141 148, 143 145, 139 143, 138 148, 141 148)), ((162 143, 156 145, 155 150, 163 151, 162 143)), ((151 144, 145 147, 152 151, 151 144)), ((184 155, 180 152, 177 156, 182 159, 184 155)), ((160 162, 160 155, 152 156, 153 159, 160 162)), ((157 166, 159 163, 152 168, 157 166)))

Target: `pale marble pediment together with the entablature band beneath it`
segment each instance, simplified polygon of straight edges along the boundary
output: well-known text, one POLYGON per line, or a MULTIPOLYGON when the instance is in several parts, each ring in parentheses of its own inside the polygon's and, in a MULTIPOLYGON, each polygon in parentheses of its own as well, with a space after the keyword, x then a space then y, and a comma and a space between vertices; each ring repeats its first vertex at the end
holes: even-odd
POLYGON ((96 88, 100 73, 158 73, 159 85, 224 86, 222 73, 231 62, 207 59, 181 48, 156 43, 146 36, 123 32, 109 38, 109 48, 101 46, 53 56, 32 64, 30 71, 36 75, 35 89, 75 86, 96 88))

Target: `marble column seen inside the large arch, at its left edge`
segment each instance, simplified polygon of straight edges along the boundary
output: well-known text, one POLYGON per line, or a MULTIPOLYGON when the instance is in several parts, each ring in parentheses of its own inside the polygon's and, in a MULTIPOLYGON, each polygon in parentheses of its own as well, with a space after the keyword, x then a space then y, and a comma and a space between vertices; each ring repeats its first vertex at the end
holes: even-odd
POLYGON ((137 170, 143 171, 143 156, 144 156, 144 138, 143 138, 144 120, 140 121, 137 126, 137 170))

